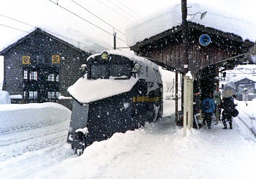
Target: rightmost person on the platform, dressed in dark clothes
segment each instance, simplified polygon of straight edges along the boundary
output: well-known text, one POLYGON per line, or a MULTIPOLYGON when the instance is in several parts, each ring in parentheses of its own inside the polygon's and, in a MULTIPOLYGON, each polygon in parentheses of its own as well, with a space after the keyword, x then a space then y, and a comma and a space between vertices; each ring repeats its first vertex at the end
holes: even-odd
POLYGON ((227 129, 226 120, 230 123, 230 129, 233 129, 232 126, 232 113, 236 105, 234 104, 233 96, 227 96, 222 100, 222 123, 224 125, 223 129, 227 129))

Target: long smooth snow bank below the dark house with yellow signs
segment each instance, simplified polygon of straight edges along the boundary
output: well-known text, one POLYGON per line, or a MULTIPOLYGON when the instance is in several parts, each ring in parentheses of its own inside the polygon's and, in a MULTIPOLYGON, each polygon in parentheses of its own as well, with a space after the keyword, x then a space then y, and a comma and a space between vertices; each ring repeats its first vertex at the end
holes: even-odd
POLYGON ((70 120, 71 111, 53 102, 0 104, 0 134, 38 126, 49 126, 70 120))

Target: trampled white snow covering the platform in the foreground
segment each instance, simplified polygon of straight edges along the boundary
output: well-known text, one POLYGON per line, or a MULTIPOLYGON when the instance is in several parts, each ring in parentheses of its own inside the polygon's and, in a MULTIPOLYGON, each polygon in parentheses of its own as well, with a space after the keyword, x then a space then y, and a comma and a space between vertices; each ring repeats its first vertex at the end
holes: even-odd
POLYGON ((34 178, 254 178, 253 142, 236 129, 183 129, 173 119, 94 142, 82 156, 34 174, 34 178), (243 166, 241 166, 243 163, 243 166))

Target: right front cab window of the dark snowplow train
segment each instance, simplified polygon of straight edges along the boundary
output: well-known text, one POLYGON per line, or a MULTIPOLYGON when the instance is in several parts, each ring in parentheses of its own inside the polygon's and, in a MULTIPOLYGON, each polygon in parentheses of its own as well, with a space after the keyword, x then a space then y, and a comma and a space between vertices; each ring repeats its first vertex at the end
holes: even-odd
POLYGON ((111 64, 110 77, 130 77, 131 66, 129 64, 111 64))

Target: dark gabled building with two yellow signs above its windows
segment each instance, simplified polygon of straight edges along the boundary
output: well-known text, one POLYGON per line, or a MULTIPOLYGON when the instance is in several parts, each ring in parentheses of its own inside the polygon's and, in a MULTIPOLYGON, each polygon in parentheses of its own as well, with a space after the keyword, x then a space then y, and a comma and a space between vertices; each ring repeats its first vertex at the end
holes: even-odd
POLYGON ((12 102, 59 102, 80 77, 80 65, 91 53, 40 28, 0 52, 4 56, 3 90, 23 99, 12 102))

